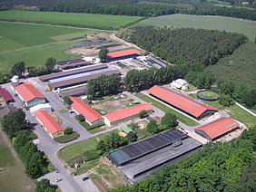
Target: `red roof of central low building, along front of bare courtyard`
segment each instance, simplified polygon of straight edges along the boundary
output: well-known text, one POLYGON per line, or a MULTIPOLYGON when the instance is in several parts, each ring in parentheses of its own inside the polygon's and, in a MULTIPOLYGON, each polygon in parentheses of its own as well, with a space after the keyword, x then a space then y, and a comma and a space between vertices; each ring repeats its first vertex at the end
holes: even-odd
POLYGON ((124 118, 131 117, 133 115, 139 114, 142 110, 153 110, 152 106, 149 104, 141 104, 134 106, 132 108, 127 108, 125 110, 119 110, 110 114, 105 115, 104 117, 107 118, 110 122, 116 120, 123 120, 124 118))

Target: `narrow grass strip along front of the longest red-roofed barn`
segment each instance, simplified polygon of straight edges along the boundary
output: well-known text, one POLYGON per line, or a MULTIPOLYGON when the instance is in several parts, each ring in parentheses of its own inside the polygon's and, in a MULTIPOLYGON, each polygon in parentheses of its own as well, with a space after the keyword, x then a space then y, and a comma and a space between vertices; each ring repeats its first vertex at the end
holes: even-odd
POLYGON ((167 107, 166 105, 162 104, 159 101, 155 101, 152 98, 144 95, 143 93, 135 94, 136 97, 142 99, 143 101, 151 103, 154 107, 158 108, 159 110, 162 110, 163 112, 171 112, 176 115, 178 120, 180 120, 182 123, 188 125, 188 126, 196 126, 198 125, 197 122, 194 120, 182 115, 181 113, 177 112, 176 110, 172 110, 171 108, 167 107))

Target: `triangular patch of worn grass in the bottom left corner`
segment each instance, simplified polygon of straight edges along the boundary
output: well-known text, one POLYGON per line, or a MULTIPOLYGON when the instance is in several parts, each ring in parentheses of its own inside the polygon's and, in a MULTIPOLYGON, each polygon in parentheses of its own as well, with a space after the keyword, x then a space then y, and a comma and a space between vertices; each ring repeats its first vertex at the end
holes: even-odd
MULTIPOLYGON (((1 129, 1 128, 0 128, 1 129)), ((0 134, 0 191, 33 192, 34 181, 27 178, 25 169, 16 162, 0 134)))

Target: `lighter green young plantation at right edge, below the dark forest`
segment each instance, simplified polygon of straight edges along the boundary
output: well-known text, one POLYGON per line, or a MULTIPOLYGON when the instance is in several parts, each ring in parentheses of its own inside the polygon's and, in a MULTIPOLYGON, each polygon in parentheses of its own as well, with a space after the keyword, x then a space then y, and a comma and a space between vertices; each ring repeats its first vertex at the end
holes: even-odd
POLYGON ((214 73, 216 79, 245 84, 249 89, 256 89, 256 44, 245 43, 229 56, 222 58, 217 64, 208 66, 206 70, 214 73))

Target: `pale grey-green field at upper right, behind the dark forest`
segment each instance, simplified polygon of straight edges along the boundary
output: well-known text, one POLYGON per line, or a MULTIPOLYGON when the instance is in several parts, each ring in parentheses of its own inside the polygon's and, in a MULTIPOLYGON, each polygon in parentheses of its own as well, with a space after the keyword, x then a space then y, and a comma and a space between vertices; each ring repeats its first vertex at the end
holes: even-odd
POLYGON ((178 28, 192 27, 210 30, 225 30, 238 34, 245 34, 251 42, 256 37, 256 22, 234 19, 223 16, 170 14, 145 19, 135 25, 173 26, 178 28))

